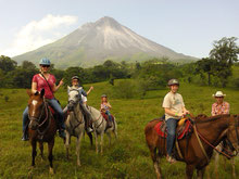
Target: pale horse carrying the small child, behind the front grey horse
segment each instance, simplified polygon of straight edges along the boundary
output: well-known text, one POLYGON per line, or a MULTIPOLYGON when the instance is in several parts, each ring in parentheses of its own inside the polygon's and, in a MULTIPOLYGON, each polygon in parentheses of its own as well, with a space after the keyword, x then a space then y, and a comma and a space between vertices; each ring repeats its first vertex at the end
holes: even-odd
POLYGON ((114 133, 117 139, 117 123, 114 118, 112 127, 108 128, 108 123, 105 118, 102 116, 101 112, 92 106, 88 106, 92 116, 92 126, 93 126, 93 135, 96 139, 96 152, 99 153, 98 150, 98 136, 101 137, 101 154, 103 154, 103 135, 106 133, 109 137, 109 144, 111 145, 111 131, 114 133))

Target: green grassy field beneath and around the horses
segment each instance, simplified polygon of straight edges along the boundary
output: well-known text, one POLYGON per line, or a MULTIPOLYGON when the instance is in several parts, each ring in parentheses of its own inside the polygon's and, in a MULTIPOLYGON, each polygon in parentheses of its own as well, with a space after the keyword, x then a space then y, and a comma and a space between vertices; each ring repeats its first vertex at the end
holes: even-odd
MULTIPOLYGON (((117 81, 116 81, 117 82, 117 81)), ((87 90, 90 85, 86 85, 87 90)), ((108 82, 93 84, 95 90, 88 97, 88 104, 97 108, 100 106, 100 95, 109 93, 108 82)), ((216 89, 183 84, 179 92, 183 94, 187 108, 194 115, 204 113, 210 115, 214 102, 212 94, 223 90, 227 94, 226 101, 231 105, 231 114, 238 114, 239 93, 234 89, 216 89)), ((144 141, 143 128, 146 124, 162 116, 163 97, 167 89, 149 91, 144 99, 114 99, 110 97, 113 106, 112 114, 118 123, 118 139, 109 146, 105 136, 104 154, 97 155, 86 136, 83 140, 80 159, 81 167, 76 166, 75 139, 71 144, 71 159, 65 158, 63 141, 56 137, 53 150, 55 175, 49 176, 48 161, 36 158, 36 167, 29 172, 30 151, 28 142, 21 141, 22 113, 26 106, 28 95, 25 89, 0 89, 0 178, 155 178, 153 165, 144 141)), ((62 105, 66 104, 66 90, 61 89, 56 94, 62 105)), ((39 154, 39 150, 38 150, 39 154)), ((45 145, 47 156, 47 145, 45 145)), ((219 165, 221 178, 231 178, 230 163, 226 162, 226 169, 219 165)), ((239 175, 239 161, 236 159, 236 172, 239 175)), ((207 175, 215 177, 213 163, 207 175)), ((185 164, 171 165, 163 159, 162 171, 165 178, 184 178, 185 164)), ((194 175, 196 178, 196 175, 194 175)))

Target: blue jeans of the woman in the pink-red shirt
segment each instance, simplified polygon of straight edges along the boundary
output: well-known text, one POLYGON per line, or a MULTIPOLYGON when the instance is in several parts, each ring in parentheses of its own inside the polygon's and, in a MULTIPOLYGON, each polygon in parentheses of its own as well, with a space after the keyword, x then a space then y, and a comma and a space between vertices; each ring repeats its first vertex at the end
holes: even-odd
MULTIPOLYGON (((61 105, 58 103, 55 99, 49 100, 49 105, 58 113, 58 119, 60 124, 60 128, 65 129, 64 125, 64 113, 62 111, 61 105)), ((26 130, 27 124, 28 124, 28 106, 23 112, 23 131, 26 130)))

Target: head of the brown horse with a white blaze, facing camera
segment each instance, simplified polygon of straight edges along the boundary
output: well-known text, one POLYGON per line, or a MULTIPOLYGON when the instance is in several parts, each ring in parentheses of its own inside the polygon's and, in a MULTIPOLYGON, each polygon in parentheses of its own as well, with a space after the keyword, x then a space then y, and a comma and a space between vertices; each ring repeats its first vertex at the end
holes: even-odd
POLYGON ((30 120, 29 128, 32 130, 36 130, 39 126, 40 118, 42 116, 45 110, 45 102, 43 102, 43 94, 45 89, 40 92, 32 93, 30 91, 27 92, 29 95, 28 100, 28 118, 30 120))

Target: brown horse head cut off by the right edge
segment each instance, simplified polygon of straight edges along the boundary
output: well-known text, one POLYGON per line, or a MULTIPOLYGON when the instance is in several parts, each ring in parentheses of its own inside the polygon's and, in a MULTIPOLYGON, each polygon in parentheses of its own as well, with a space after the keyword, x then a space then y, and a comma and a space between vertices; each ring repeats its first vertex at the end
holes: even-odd
POLYGON ((227 139, 229 140, 229 142, 238 153, 239 152, 239 115, 230 115, 227 139))

